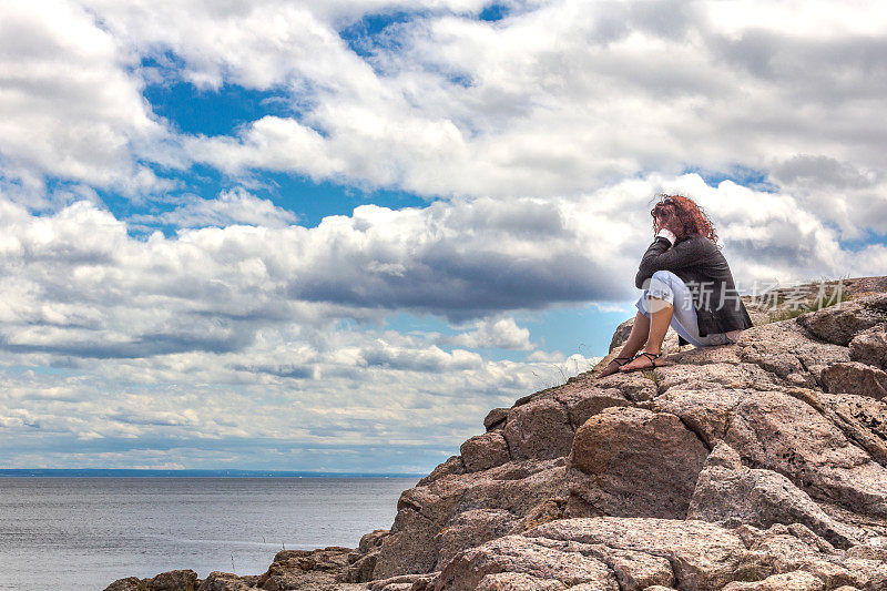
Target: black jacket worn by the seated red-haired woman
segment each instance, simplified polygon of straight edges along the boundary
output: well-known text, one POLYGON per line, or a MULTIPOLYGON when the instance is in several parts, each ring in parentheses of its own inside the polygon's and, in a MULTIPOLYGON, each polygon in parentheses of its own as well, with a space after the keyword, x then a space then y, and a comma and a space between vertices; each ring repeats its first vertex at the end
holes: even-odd
POLYGON ((705 236, 692 234, 674 246, 667 238, 656 237, 641 259, 634 285, 645 289, 650 277, 660 269, 671 271, 690 288, 700 336, 752 327, 726 258, 705 236))

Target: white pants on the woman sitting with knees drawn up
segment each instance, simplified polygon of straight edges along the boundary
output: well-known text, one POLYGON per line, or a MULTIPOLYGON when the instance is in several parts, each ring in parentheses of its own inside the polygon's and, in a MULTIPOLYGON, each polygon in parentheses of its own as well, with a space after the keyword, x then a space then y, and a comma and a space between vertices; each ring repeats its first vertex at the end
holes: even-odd
MULTIPOLYGON (((696 324, 696 308, 693 307, 693 296, 684 282, 671 271, 657 271, 650 278, 648 288, 634 304, 641 314, 650 317, 649 297, 664 299, 674 306, 671 327, 674 332, 694 347, 711 347, 714 345, 726 345, 735 343, 742 330, 731 330, 730 333, 713 333, 700 336, 700 328, 696 324)), ((654 305, 655 306, 655 305, 654 305)), ((659 309, 654 307, 654 312, 659 309)))

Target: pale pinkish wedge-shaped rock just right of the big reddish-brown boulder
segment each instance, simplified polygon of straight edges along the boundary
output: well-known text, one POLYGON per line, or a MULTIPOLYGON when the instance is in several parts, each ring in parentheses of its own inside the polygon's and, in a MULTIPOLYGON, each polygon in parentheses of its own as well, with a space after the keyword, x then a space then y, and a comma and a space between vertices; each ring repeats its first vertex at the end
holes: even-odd
POLYGON ((803 523, 837 547, 859 543, 857 532, 835 522, 791 480, 772 470, 744 467, 738 454, 724 442, 705 461, 687 519, 725 527, 803 523))

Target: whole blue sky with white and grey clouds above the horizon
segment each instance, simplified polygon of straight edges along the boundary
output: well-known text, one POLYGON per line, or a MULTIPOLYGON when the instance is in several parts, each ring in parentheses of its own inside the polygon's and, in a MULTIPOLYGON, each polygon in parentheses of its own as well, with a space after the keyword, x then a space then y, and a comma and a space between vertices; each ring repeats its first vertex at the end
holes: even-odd
POLYGON ((887 6, 4 0, 2 466, 427 472, 633 315, 887 269, 887 6))

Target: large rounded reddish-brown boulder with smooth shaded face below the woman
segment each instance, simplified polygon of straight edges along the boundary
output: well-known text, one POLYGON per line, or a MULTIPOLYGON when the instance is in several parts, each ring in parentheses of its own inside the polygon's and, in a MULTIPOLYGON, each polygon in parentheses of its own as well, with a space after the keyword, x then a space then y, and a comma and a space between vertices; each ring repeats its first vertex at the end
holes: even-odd
POLYGON ((577 431, 570 493, 611 516, 686 516, 708 450, 671 414, 604 409, 577 431))

